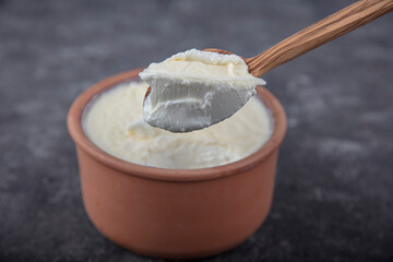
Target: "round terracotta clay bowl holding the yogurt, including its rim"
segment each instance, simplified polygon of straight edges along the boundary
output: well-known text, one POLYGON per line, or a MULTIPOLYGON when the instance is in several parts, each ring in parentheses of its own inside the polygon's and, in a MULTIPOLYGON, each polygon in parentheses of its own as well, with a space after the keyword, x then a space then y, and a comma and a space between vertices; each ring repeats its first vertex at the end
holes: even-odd
POLYGON ((201 169, 131 164, 95 146, 81 120, 92 98, 121 82, 139 80, 139 72, 95 84, 69 111, 88 217, 115 243, 148 257, 201 258, 239 245, 261 226, 272 204, 278 146, 286 132, 283 107, 258 87, 258 97, 274 117, 274 133, 261 150, 239 162, 201 169))

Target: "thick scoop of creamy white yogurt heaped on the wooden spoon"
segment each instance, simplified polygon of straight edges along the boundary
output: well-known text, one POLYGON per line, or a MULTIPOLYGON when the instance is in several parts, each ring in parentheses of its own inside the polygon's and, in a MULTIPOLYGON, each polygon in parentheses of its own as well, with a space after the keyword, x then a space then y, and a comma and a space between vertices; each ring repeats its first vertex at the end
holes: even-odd
POLYGON ((140 73, 152 90, 143 105, 147 123, 189 132, 219 122, 239 110, 265 82, 248 72, 236 55, 191 49, 140 73))

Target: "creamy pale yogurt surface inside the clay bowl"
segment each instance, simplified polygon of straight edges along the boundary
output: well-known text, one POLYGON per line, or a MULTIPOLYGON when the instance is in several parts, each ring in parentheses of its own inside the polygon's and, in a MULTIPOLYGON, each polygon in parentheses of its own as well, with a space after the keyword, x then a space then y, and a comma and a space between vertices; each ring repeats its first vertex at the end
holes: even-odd
POLYGON ((189 133, 172 133, 147 124, 142 104, 148 84, 130 82, 97 95, 86 107, 82 127, 98 147, 139 165, 193 169, 245 158, 270 139, 270 111, 251 97, 233 117, 189 133))

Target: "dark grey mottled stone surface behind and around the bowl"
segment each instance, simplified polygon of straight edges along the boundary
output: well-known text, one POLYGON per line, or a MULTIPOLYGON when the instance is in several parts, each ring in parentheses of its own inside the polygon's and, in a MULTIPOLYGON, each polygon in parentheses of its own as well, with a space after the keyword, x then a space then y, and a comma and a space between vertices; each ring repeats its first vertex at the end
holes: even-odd
MULTIPOLYGON (((253 56, 349 4, 0 1, 0 261, 156 261, 83 210, 66 115, 91 84, 192 47, 253 56)), ((265 75, 287 110, 272 212, 204 261, 393 261, 393 16, 265 75)))

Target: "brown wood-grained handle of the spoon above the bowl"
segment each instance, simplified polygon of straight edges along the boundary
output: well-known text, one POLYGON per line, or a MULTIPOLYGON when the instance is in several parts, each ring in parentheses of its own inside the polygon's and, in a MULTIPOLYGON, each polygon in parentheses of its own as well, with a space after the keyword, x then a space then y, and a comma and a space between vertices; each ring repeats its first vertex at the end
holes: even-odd
MULTIPOLYGON (((249 72, 261 78, 276 67, 391 12, 393 0, 362 0, 317 22, 253 58, 249 72)), ((391 34, 388 33, 386 34, 391 34)))

